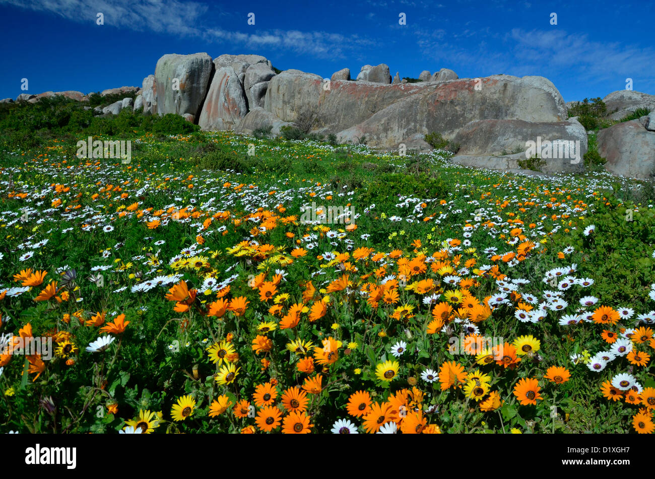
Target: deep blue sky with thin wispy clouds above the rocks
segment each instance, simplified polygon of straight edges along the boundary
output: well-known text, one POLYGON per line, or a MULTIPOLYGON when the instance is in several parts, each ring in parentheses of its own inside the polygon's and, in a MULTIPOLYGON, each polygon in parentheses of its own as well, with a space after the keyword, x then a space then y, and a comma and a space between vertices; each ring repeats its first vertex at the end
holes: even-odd
POLYGON ((542 75, 565 101, 623 90, 627 78, 655 94, 654 19, 655 3, 632 0, 0 0, 0 98, 24 93, 23 78, 33 94, 141 86, 160 56, 195 52, 261 54, 323 77, 343 67, 356 77, 367 63, 400 77, 542 75))

